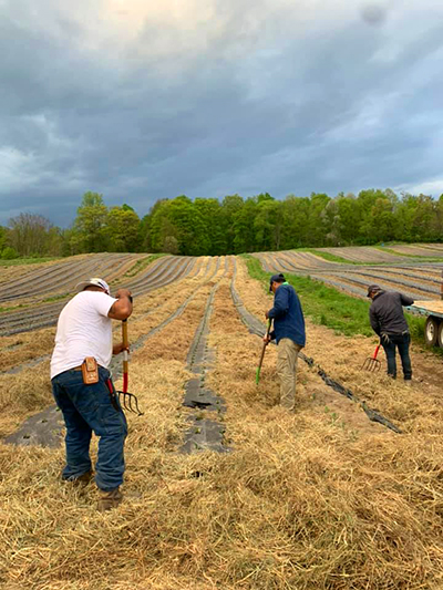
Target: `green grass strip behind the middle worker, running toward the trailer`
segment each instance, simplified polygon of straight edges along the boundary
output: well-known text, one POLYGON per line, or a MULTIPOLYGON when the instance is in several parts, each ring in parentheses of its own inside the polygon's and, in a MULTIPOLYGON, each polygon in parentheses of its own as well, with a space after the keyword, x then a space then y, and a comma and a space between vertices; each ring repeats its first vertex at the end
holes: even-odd
MULTIPOLYGON (((249 255, 243 255, 249 276, 259 280, 268 292, 270 275, 265 272, 260 261, 249 255)), ((369 300, 357 299, 309 277, 285 272, 285 277, 296 289, 302 302, 303 313, 313 323, 326 325, 337 334, 375 337, 369 323, 369 300)), ((424 318, 406 313, 411 337, 424 345, 424 318)), ((435 349, 436 352, 443 352, 435 349)))

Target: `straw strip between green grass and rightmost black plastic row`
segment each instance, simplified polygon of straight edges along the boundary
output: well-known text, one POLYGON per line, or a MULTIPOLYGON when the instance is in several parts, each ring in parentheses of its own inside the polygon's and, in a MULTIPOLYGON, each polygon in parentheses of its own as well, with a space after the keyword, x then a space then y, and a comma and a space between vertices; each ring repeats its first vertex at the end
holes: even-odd
MULTIPOLYGON (((260 283, 250 279, 243 260, 237 261, 237 290, 248 310, 259 318, 272 307, 260 283)), ((301 301, 302 303, 302 301, 301 301)), ((368 320, 369 321, 369 320, 368 320)), ((341 382, 373 410, 389 420, 399 423, 406 432, 443 434, 442 380, 443 369, 439 358, 412 346, 412 386, 404 384, 400 359, 398 380, 387 376, 383 351, 379 353, 382 368, 378 373, 363 371, 367 356, 372 355, 378 339, 374 337, 343 337, 323 325, 307 320, 307 345, 303 353, 315 361, 333 379, 341 382)))

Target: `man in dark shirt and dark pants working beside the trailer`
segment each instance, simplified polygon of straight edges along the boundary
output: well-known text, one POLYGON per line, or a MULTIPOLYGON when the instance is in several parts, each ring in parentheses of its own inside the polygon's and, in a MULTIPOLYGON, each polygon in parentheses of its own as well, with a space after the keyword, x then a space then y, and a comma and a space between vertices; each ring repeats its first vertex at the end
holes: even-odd
POLYGON ((388 375, 392 379, 396 377, 395 350, 399 349, 404 381, 410 382, 412 377, 409 355, 411 334, 404 318, 403 306, 412 306, 414 300, 402 293, 383 291, 378 284, 368 287, 368 297, 372 299, 369 321, 372 330, 380 337, 387 354, 388 375))

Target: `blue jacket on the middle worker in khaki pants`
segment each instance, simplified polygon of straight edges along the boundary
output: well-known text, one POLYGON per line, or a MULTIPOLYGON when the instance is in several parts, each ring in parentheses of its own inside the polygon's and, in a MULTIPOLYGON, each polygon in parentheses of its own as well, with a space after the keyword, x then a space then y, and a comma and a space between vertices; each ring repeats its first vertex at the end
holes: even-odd
POLYGON ((301 310, 300 300, 288 282, 284 282, 274 296, 274 308, 269 310, 268 317, 274 320, 274 330, 270 338, 277 340, 277 344, 282 338, 289 338, 296 344, 305 346, 305 318, 301 310))

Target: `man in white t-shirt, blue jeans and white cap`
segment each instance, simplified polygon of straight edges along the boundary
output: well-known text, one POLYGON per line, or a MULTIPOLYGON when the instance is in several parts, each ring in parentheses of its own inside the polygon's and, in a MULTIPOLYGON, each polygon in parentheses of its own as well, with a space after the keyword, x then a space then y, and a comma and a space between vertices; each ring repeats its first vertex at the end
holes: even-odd
POLYGON ((92 432, 100 437, 95 483, 100 489, 100 510, 117 506, 124 474, 126 418, 115 395, 109 365, 112 354, 124 350, 113 346, 112 321, 126 320, 132 313, 132 297, 120 289, 115 298, 99 278, 76 286, 80 291, 59 317, 55 348, 51 359, 51 383, 55 402, 66 425, 66 465, 62 478, 89 482, 92 476, 90 442, 92 432), (84 384, 81 365, 93 356, 99 365, 99 382, 84 384))

